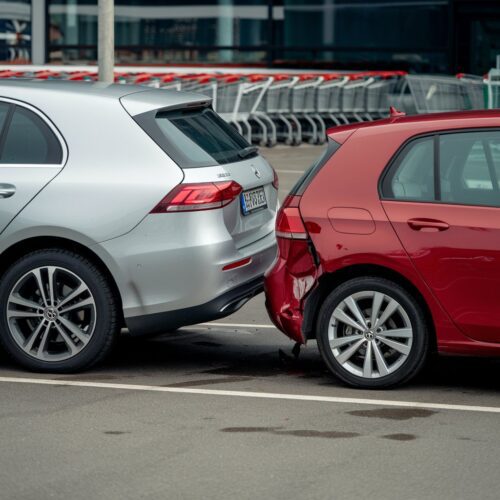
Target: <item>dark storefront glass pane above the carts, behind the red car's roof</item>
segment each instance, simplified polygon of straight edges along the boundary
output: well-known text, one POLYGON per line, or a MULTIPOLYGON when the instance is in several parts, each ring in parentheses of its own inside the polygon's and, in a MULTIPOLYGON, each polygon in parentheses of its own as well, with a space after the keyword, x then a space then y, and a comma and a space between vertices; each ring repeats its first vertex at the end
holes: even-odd
POLYGON ((285 60, 448 71, 448 0, 283 0, 285 60), (309 49, 309 50, 308 50, 309 49))

